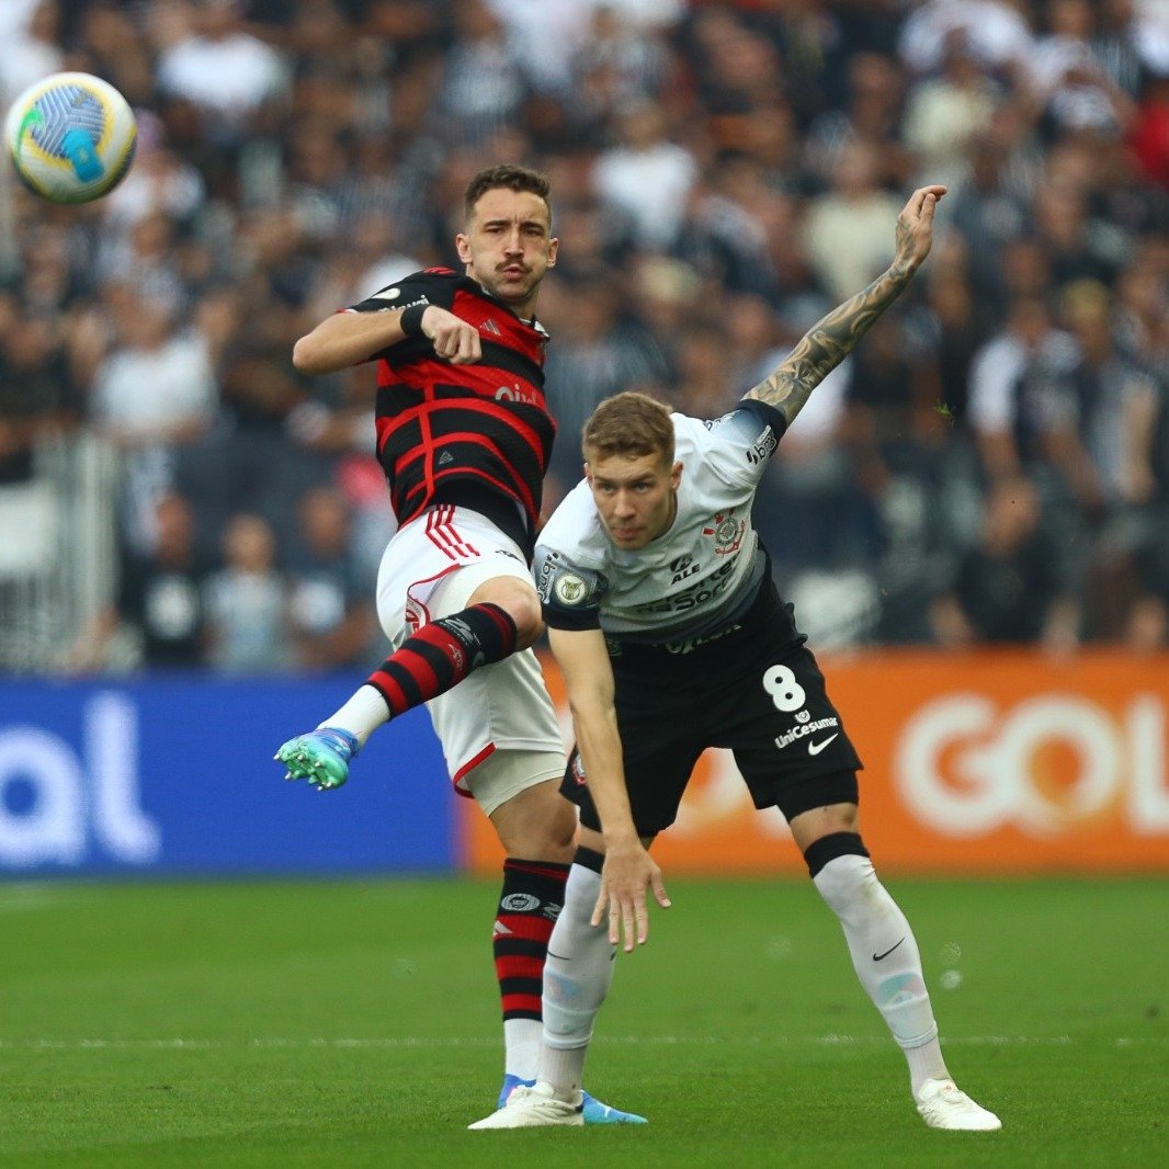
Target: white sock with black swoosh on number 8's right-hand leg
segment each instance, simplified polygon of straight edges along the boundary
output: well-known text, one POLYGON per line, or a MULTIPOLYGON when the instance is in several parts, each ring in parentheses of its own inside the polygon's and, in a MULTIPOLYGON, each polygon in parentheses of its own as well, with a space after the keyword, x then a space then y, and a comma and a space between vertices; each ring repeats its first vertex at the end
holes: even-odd
POLYGON ((841 919, 860 984, 905 1052, 914 1094, 927 1079, 948 1078, 916 940, 872 862, 835 857, 812 880, 841 919))

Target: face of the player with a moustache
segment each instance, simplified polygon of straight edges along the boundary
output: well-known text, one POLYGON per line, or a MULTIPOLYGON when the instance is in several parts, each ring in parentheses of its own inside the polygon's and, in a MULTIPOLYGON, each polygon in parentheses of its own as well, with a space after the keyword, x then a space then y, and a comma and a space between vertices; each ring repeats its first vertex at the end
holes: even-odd
POLYGON ((548 205, 531 191, 497 187, 479 196, 455 238, 466 275, 520 316, 535 310, 544 274, 556 262, 548 205))

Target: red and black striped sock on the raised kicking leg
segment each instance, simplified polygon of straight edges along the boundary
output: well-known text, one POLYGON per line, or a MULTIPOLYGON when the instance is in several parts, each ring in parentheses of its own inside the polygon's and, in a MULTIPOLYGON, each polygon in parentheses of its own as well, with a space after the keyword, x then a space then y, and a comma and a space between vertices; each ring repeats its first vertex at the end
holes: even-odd
POLYGON ((372 675, 389 717, 444 694, 480 665, 503 662, 516 651, 516 622, 511 614, 490 602, 431 621, 372 675))

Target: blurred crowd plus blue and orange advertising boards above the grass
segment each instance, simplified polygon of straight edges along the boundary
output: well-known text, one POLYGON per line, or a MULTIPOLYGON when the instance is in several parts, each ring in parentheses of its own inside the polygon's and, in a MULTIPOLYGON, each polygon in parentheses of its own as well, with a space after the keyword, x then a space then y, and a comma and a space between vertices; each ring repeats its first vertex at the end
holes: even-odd
MULTIPOLYGON (((87 207, 0 167, 0 866, 493 869, 424 718, 341 808, 268 759, 380 660, 392 523, 372 371, 304 378, 292 344, 450 263, 500 159, 551 175, 563 240, 549 506, 596 401, 718 415, 949 185, 759 526, 886 864, 1169 866, 1167 7, 7 0, 0 98, 88 70, 140 144, 87 207), (192 807, 216 784, 238 803, 192 807)), ((677 838, 798 867, 713 756, 677 838)))

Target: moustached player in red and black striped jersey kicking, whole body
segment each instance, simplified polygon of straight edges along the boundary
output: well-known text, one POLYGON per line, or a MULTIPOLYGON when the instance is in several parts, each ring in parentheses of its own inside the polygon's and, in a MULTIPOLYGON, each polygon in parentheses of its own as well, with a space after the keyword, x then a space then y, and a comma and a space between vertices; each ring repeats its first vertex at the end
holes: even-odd
MULTIPOLYGON (((555 433, 535 304, 558 241, 547 180, 525 167, 477 174, 464 210, 462 272, 415 272, 293 350, 311 374, 378 362, 378 456, 399 528, 376 600, 394 652, 276 758, 289 779, 340 787, 376 727, 426 703, 456 791, 478 802, 507 853, 494 924, 504 1100, 535 1075, 544 964, 576 831, 559 791, 560 726, 530 648, 544 628, 530 566, 555 433)), ((641 1120, 587 1101, 586 1121, 641 1120)))

